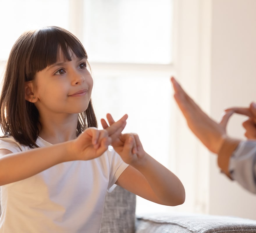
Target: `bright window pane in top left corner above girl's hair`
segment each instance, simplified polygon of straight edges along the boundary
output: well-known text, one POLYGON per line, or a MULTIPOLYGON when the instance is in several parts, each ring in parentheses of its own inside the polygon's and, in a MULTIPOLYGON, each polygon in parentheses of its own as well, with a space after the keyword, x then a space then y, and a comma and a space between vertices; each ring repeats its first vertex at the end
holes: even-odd
POLYGON ((18 37, 26 30, 44 26, 68 29, 68 0, 1 1, 0 60, 6 60, 18 37))

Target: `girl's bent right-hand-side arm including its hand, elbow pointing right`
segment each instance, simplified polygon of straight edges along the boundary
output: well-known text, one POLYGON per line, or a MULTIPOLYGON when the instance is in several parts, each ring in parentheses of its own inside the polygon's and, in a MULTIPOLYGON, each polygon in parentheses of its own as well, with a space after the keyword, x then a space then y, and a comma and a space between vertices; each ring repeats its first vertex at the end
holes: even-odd
MULTIPOLYGON (((115 123, 110 114, 109 124, 115 123)), ((102 119, 103 128, 108 124, 102 119)), ((175 206, 184 203, 185 190, 181 181, 166 167, 148 155, 136 134, 122 134, 111 143, 115 151, 129 164, 116 184, 147 200, 175 206)))

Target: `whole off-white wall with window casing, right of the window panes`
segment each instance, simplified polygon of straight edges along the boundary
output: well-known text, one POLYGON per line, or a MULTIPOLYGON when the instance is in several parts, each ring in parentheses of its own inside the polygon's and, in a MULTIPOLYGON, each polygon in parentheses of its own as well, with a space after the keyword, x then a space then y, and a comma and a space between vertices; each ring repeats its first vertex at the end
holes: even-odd
MULTIPOLYGON (((213 119, 226 107, 256 101, 256 1, 177 0, 177 79, 213 119)), ((175 104, 174 104, 175 106, 175 104)), ((220 173, 216 155, 196 140, 174 107, 176 174, 186 201, 177 211, 256 219, 256 195, 220 173)), ((243 139, 243 116, 228 125, 243 139)))

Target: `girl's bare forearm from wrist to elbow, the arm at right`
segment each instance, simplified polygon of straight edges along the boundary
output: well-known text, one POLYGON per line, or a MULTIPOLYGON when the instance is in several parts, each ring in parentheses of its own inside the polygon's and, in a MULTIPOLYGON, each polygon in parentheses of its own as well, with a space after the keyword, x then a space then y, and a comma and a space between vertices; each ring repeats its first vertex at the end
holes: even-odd
POLYGON ((132 166, 147 179, 155 195, 162 202, 159 204, 174 206, 184 203, 185 190, 182 182, 150 155, 146 154, 142 163, 132 166))

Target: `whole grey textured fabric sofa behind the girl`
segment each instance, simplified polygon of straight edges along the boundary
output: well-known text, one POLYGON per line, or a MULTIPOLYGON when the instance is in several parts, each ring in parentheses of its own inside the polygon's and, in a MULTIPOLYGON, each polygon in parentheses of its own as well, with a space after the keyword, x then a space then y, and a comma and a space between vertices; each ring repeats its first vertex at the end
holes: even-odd
POLYGON ((256 220, 192 213, 137 216, 136 195, 117 186, 107 193, 100 233, 253 233, 256 220))

